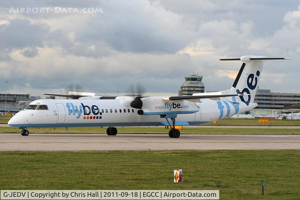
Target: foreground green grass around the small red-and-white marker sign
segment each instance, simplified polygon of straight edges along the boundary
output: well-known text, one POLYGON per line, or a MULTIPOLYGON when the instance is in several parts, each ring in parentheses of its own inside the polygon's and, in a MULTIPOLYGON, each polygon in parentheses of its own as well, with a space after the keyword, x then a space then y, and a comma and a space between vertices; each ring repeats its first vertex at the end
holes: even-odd
POLYGON ((300 150, 2 151, 0 189, 220 190, 220 199, 299 199, 299 158, 300 150), (186 182, 175 184, 178 168, 186 182))

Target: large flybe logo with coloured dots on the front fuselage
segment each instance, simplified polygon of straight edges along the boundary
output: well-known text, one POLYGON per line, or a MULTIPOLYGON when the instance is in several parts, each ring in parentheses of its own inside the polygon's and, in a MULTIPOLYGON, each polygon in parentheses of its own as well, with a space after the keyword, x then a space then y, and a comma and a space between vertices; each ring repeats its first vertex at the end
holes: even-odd
MULTIPOLYGON (((76 119, 79 119, 80 116, 82 115, 82 110, 83 110, 83 115, 102 115, 102 113, 100 112, 98 106, 96 105, 92 105, 91 107, 89 106, 85 106, 83 103, 81 103, 81 105, 76 106, 74 105, 73 103, 66 103, 66 107, 68 109, 68 114, 69 115, 77 115, 76 116, 76 119)), ((96 116, 94 117, 83 117, 83 119, 96 119, 96 116)), ((97 119, 101 119, 102 117, 101 116, 97 116, 97 119)))

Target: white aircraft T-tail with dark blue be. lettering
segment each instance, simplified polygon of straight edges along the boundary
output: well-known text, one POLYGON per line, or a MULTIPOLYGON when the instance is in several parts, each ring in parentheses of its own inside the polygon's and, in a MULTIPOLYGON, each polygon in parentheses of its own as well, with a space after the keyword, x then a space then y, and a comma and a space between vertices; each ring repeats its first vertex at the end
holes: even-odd
POLYGON ((265 60, 290 60, 292 58, 285 57, 266 57, 266 56, 242 56, 240 58, 225 58, 220 60, 241 60, 242 66, 235 78, 231 87, 230 94, 244 94, 249 95, 239 96, 240 100, 246 105, 254 101, 257 90, 257 84, 261 76, 262 67, 265 60))

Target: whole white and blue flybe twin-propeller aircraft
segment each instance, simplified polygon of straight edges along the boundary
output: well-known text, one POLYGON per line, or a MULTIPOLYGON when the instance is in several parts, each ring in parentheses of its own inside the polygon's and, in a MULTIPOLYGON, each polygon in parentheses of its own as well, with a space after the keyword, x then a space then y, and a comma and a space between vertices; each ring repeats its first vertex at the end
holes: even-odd
POLYGON ((108 127, 107 135, 116 135, 116 127, 170 125, 169 137, 178 138, 175 125, 200 125, 256 107, 253 102, 266 60, 285 57, 242 56, 220 60, 239 60, 241 68, 231 89, 192 96, 96 96, 95 93, 69 92, 44 95, 68 97, 32 101, 16 113, 8 125, 22 129, 42 127, 108 127))

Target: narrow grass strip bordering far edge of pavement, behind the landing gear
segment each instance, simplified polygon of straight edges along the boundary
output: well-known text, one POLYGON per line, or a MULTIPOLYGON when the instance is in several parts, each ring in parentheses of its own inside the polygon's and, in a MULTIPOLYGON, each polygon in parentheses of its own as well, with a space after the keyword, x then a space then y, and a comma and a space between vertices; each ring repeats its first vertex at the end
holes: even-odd
MULTIPOLYGON (((90 133, 106 134, 106 127, 76 127, 69 128, 28 128, 32 133, 90 133)), ((0 127, 0 133, 20 133, 16 127, 0 127)), ((167 134, 169 130, 164 127, 118 127, 118 134, 167 134)), ((300 134, 299 128, 187 128, 183 127, 180 134, 300 134)))

